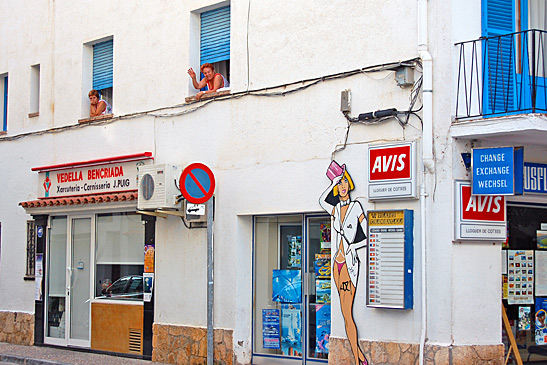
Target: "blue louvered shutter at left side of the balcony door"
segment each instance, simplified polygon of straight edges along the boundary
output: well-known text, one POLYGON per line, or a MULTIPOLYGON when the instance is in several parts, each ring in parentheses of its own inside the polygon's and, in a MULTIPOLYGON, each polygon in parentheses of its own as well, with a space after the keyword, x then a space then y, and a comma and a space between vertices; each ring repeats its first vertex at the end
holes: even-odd
MULTIPOLYGON (((482 0, 482 36, 515 32, 514 0, 482 0)), ((514 110, 516 38, 492 38, 483 43, 483 114, 514 110)))

